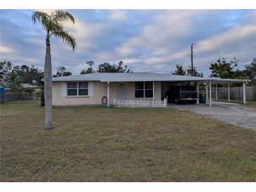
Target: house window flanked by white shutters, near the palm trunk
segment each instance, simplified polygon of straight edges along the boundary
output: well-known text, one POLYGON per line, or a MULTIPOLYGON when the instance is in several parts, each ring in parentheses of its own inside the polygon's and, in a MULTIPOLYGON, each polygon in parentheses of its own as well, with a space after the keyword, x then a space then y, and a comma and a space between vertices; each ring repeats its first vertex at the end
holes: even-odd
POLYGON ((88 95, 88 82, 67 83, 67 96, 88 95))

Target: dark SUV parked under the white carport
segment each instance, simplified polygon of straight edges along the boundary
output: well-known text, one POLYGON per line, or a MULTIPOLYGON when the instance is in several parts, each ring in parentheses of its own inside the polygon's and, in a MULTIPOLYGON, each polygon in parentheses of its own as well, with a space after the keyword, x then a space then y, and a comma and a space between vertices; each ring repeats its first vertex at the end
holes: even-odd
POLYGON ((166 92, 166 96, 168 96, 168 102, 175 102, 176 104, 180 102, 196 103, 198 98, 196 89, 192 85, 170 87, 166 92))

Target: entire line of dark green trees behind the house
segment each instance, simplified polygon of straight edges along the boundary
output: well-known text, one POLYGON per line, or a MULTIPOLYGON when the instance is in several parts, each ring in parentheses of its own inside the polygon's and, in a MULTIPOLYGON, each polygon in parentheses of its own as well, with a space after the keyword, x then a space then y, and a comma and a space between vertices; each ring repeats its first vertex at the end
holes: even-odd
MULTIPOLYGON (((225 60, 217 60, 214 63, 210 64, 209 69, 211 70, 210 76, 212 77, 220 77, 220 78, 245 78, 251 79, 253 82, 256 81, 256 58, 252 59, 251 64, 245 65, 245 69, 239 70, 235 69, 238 67, 239 60, 233 58, 230 61, 225 60)), ((175 64, 175 71, 173 74, 175 75, 188 75, 191 76, 191 70, 184 70, 182 64, 175 64)), ((189 69, 191 67, 189 66, 189 69)), ((123 62, 120 61, 117 64, 110 64, 108 62, 104 62, 99 64, 97 68, 95 68, 95 62, 88 61, 86 62, 86 68, 82 69, 80 74, 91 74, 91 73, 130 73, 133 72, 128 69, 127 65, 123 65, 123 62)), ((67 68, 63 65, 60 65, 57 68, 53 77, 58 76, 70 76, 72 75, 72 71, 68 71, 67 68)), ((203 76, 203 73, 194 71, 194 76, 203 76)), ((0 86, 4 86, 6 88, 11 88, 12 92, 18 93, 22 90, 22 83, 29 83, 31 85, 37 85, 39 88, 43 87, 43 71, 31 65, 29 67, 26 64, 22 64, 20 66, 13 67, 11 61, 4 60, 0 62, 0 86)))

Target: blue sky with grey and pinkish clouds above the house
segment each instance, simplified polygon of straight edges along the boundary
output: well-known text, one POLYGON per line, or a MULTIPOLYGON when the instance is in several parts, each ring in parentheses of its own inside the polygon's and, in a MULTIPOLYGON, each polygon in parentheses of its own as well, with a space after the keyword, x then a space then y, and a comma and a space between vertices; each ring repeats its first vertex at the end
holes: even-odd
MULTIPOLYGON (((1 60, 43 69, 45 32, 33 25, 32 10, 1 10, 1 60)), ((51 39, 53 71, 64 65, 79 74, 95 64, 122 60, 135 72, 170 73, 175 63, 188 69, 194 43, 194 66, 205 76, 220 57, 240 58, 238 69, 256 57, 255 10, 70 10, 75 25, 65 27, 76 50, 51 39), (219 55, 218 55, 219 54, 219 55)))

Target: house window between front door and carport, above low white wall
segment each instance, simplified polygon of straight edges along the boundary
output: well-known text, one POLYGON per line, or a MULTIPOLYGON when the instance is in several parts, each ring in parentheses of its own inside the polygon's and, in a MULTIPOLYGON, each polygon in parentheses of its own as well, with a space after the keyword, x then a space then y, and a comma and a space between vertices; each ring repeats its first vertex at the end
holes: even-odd
POLYGON ((135 82, 135 98, 153 97, 153 82, 135 82))

